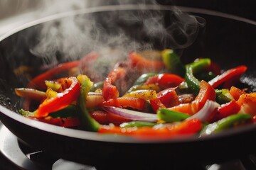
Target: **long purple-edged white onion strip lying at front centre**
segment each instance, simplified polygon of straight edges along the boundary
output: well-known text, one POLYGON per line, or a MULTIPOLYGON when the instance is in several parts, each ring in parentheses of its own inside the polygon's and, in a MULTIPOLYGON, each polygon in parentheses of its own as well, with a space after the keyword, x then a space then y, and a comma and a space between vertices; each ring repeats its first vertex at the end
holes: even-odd
POLYGON ((156 122, 158 120, 157 115, 152 113, 144 113, 139 111, 132 111, 126 108, 116 108, 108 106, 104 106, 102 108, 107 112, 114 113, 116 115, 120 115, 124 118, 129 118, 131 120, 140 120, 145 122, 156 122))

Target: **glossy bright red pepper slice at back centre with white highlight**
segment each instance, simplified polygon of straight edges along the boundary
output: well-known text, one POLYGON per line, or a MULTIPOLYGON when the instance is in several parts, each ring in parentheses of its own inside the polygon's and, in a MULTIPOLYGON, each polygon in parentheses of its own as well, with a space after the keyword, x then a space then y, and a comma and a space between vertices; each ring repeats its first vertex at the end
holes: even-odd
POLYGON ((159 74, 154 77, 149 77, 147 81, 144 83, 144 85, 147 84, 156 84, 158 85, 161 89, 167 89, 169 87, 174 87, 178 86, 181 84, 185 79, 182 77, 179 77, 176 74, 159 74))

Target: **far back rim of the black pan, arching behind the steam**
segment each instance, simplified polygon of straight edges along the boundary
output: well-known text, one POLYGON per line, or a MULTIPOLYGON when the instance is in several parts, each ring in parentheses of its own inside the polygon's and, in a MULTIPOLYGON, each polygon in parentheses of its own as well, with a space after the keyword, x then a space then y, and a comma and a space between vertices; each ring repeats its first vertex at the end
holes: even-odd
POLYGON ((43 18, 38 18, 35 21, 25 23, 21 26, 18 26, 17 28, 9 30, 4 35, 1 35, 0 42, 4 39, 8 38, 9 36, 13 35, 14 33, 18 33, 18 31, 24 30, 26 28, 30 28, 32 26, 36 26, 40 23, 45 23, 48 21, 53 21, 53 20, 65 18, 68 16, 75 16, 75 15, 86 14, 86 13, 105 12, 105 11, 116 11, 117 9, 119 11, 132 11, 132 10, 133 11, 136 11, 136 10, 161 10, 161 11, 168 10, 168 11, 171 11, 174 8, 178 8, 183 12, 201 13, 201 14, 206 14, 206 15, 210 15, 210 16, 219 16, 219 17, 223 17, 223 18, 232 19, 235 21, 250 23, 250 24, 256 26, 256 21, 252 21, 248 18, 243 18, 240 16, 235 16, 232 14, 208 10, 208 9, 204 9, 204 8, 192 8, 192 7, 186 7, 186 6, 163 6, 163 5, 139 5, 138 6, 138 5, 134 5, 134 4, 127 4, 127 5, 112 5, 112 6, 97 6, 97 7, 91 7, 91 8, 82 8, 79 10, 67 11, 67 12, 63 12, 63 13, 56 13, 56 14, 46 16, 43 18))

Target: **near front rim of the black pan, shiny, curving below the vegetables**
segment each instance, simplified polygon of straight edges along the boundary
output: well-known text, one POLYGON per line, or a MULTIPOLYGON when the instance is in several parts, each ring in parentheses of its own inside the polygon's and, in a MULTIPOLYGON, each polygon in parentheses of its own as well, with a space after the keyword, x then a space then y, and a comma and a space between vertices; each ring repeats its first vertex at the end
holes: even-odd
MULTIPOLYGON (((207 135, 204 137, 198 137, 198 136, 177 136, 170 139, 165 140, 139 140, 138 138, 134 138, 131 136, 125 136, 125 135, 116 135, 116 134, 99 134, 97 132, 89 132, 85 130, 75 130, 71 128, 63 128, 57 125, 50 125, 48 123, 43 123, 37 120, 32 120, 29 118, 25 118, 22 115, 18 115, 18 113, 15 113, 14 111, 10 111, 8 108, 5 108, 4 106, 0 105, 0 113, 8 116, 9 118, 12 118, 13 120, 16 120, 19 123, 25 124, 30 126, 31 128, 36 128, 39 130, 43 130, 45 132, 50 132, 56 135, 63 135, 65 137, 73 137, 80 140, 91 140, 91 141, 97 141, 97 142, 114 142, 114 143, 150 143, 150 144, 160 144, 160 143, 188 143, 188 142, 203 142, 207 140, 217 140, 217 139, 223 139, 225 137, 230 137, 233 135, 239 135, 243 132, 247 132, 250 130, 256 131, 256 125, 245 125, 243 127, 240 127, 238 129, 230 129, 225 130, 223 132, 218 132, 215 134, 207 135)), ((0 121, 1 123, 1 121, 0 121)), ((4 123, 3 123, 4 124, 4 123)))

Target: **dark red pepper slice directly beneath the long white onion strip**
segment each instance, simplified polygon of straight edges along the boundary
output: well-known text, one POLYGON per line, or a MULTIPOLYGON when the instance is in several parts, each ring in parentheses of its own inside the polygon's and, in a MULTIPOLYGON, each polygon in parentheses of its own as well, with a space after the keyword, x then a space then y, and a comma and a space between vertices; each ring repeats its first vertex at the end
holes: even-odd
POLYGON ((90 116, 102 125, 108 125, 110 123, 113 123, 114 125, 120 125, 121 123, 132 121, 128 118, 123 118, 122 116, 113 113, 107 113, 105 111, 92 111, 90 112, 90 116))

